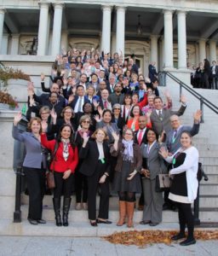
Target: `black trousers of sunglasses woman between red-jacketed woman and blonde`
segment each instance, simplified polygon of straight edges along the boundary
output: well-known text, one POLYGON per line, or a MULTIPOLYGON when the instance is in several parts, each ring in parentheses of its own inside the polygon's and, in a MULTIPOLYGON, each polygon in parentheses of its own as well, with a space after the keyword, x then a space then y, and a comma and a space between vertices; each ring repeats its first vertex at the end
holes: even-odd
POLYGON ((87 202, 88 198, 88 183, 87 177, 79 172, 79 169, 75 172, 75 189, 76 189, 76 201, 87 202), (83 200, 82 200, 83 194, 83 200))

